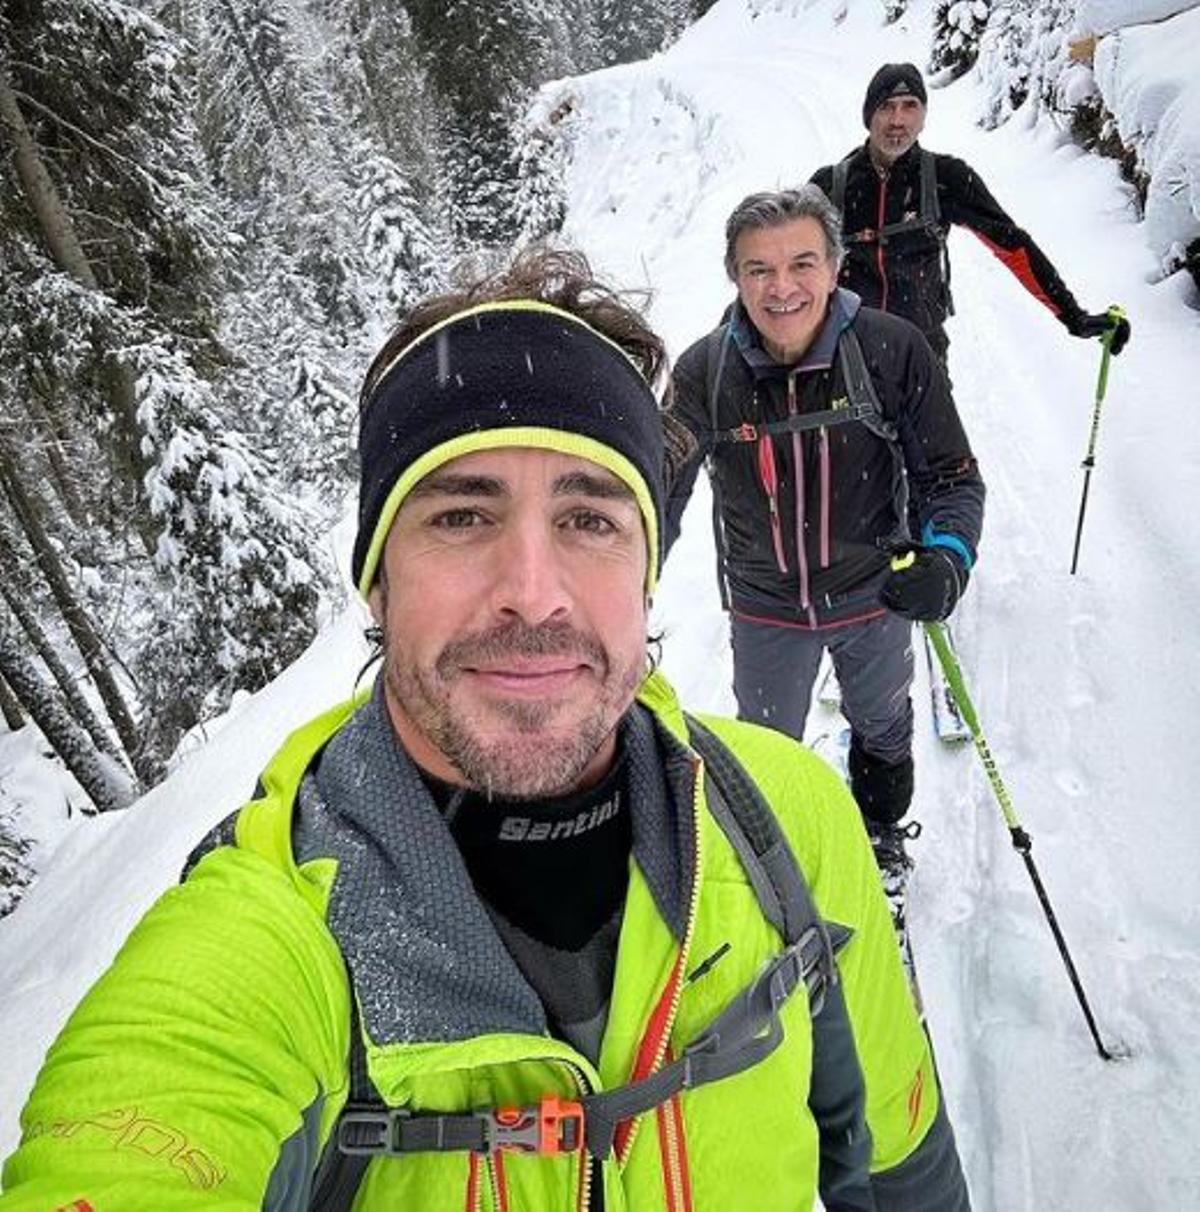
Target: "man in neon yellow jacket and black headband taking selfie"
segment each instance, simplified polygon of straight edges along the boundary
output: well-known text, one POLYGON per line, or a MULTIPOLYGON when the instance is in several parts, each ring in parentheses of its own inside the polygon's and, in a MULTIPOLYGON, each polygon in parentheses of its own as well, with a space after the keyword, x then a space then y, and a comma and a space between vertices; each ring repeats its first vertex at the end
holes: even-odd
POLYGON ((968 1207, 848 793, 647 674, 662 365, 571 255, 410 314, 361 405, 382 676, 76 1008, 4 1212, 968 1207))

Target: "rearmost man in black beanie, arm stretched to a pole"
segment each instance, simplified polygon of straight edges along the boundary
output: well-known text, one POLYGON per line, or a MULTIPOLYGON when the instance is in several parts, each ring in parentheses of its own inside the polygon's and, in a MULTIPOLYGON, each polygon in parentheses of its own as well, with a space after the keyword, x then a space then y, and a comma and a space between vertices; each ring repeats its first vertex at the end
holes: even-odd
POLYGON ((926 104, 916 67, 885 63, 863 98, 867 142, 812 175, 813 184, 842 216, 841 285, 867 307, 912 320, 944 367, 949 348, 944 324, 954 311, 945 239, 950 225, 958 224, 973 231, 1073 337, 1098 337, 1115 328, 1112 348, 1119 354, 1128 341, 1128 321, 1085 311, 978 172, 918 143, 926 104))

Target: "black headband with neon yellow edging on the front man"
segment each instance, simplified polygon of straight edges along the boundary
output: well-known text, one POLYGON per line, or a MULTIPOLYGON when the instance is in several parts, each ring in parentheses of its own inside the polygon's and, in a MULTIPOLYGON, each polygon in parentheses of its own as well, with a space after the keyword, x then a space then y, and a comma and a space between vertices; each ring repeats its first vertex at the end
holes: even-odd
POLYGON ((408 492, 453 458, 507 446, 576 454, 624 481, 642 515, 653 590, 665 497, 658 401, 625 351, 577 315, 508 299, 423 332, 362 404, 352 571, 364 598, 408 492))

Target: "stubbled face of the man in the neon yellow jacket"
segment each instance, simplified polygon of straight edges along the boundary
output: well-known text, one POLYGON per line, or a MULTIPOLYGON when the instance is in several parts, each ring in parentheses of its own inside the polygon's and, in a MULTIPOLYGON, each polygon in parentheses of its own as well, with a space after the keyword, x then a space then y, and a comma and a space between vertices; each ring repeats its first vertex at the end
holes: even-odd
POLYGON ((599 779, 646 668, 646 532, 596 463, 505 447, 407 496, 371 608, 418 765, 512 799, 599 779))

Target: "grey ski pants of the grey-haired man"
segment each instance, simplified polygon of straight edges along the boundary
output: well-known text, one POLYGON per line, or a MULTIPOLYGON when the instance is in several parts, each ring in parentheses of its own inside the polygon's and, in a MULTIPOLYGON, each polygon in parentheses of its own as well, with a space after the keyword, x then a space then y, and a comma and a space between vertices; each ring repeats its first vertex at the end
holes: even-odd
POLYGON ((885 762, 913 748, 913 624, 886 613, 813 631, 730 617, 733 693, 743 720, 804 738, 821 653, 828 648, 841 709, 862 749, 885 762))

